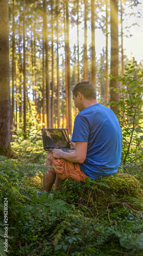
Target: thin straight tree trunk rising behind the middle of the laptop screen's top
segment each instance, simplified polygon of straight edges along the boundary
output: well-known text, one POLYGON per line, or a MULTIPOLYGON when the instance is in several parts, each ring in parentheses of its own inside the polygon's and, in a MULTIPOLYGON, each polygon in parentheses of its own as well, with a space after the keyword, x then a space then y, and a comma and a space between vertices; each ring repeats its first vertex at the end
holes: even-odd
POLYGON ((57 13, 56 13, 56 46, 57 46, 57 60, 56 60, 56 79, 57 79, 57 87, 56 87, 56 92, 57 92, 57 122, 58 122, 58 128, 60 127, 60 78, 59 78, 59 39, 58 39, 58 27, 59 27, 59 15, 58 15, 58 0, 56 0, 56 8, 57 8, 57 13))

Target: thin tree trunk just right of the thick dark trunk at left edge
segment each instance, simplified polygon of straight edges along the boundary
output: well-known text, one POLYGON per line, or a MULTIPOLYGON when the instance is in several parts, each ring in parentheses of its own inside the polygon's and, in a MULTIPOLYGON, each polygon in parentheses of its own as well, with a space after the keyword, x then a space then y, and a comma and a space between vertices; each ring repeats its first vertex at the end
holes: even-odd
MULTIPOLYGON (((11 112, 11 129, 14 127, 14 81, 15 81, 15 20, 14 20, 14 14, 15 14, 15 3, 13 0, 13 10, 12 10, 12 20, 13 20, 13 34, 12 34, 12 112, 11 112)), ((13 134, 13 132, 12 132, 13 134)))

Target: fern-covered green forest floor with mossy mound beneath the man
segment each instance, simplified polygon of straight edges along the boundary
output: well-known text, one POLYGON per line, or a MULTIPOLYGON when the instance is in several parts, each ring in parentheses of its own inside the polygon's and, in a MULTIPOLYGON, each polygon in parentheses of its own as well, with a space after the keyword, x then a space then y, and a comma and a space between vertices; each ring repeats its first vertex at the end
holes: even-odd
POLYGON ((142 169, 120 167, 115 178, 86 183, 67 180, 60 191, 39 196, 47 155, 42 141, 12 148, 14 159, 0 157, 2 256, 143 255, 142 169))

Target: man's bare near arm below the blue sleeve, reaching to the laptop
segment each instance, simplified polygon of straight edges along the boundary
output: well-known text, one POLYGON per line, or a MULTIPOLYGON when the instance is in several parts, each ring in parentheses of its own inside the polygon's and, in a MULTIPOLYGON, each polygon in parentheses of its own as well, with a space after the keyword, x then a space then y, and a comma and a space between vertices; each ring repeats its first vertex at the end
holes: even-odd
POLYGON ((75 152, 67 153, 62 150, 54 149, 52 151, 54 158, 63 158, 73 163, 83 163, 87 157, 88 142, 75 142, 75 152))

